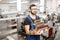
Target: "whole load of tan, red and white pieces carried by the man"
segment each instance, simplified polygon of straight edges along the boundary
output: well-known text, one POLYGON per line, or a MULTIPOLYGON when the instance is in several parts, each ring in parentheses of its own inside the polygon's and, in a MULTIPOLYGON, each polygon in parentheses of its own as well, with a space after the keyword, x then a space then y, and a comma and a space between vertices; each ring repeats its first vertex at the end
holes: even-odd
POLYGON ((50 37, 53 34, 53 29, 49 27, 47 24, 44 24, 40 19, 34 21, 35 25, 35 32, 38 33, 38 35, 44 35, 47 37, 50 37))

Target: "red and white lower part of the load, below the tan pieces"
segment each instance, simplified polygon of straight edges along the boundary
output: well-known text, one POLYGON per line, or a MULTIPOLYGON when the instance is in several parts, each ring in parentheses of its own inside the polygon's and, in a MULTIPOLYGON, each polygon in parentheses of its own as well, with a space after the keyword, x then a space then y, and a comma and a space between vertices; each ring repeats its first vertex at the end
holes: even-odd
POLYGON ((36 27, 36 31, 40 33, 43 30, 42 35, 46 37, 50 37, 53 34, 53 28, 50 28, 47 24, 42 24, 36 27))

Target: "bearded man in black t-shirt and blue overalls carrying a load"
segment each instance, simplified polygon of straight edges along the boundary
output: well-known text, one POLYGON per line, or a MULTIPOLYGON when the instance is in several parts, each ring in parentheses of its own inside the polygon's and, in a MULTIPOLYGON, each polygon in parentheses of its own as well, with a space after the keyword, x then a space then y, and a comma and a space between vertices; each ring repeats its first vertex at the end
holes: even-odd
POLYGON ((36 15, 37 6, 32 4, 32 5, 30 5, 29 9, 30 9, 30 13, 24 21, 25 32, 26 32, 26 34, 30 34, 27 36, 27 39, 28 40, 40 40, 39 35, 33 35, 33 34, 38 34, 38 33, 34 32, 34 30, 35 30, 34 20, 40 19, 39 16, 36 15))

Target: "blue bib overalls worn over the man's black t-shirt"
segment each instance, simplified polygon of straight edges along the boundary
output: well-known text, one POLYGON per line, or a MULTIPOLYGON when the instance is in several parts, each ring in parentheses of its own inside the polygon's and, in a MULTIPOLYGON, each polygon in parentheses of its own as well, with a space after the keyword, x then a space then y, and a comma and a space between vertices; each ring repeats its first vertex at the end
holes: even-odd
MULTIPOLYGON (((30 24, 30 30, 34 30, 35 26, 34 26, 34 21, 32 20, 32 18, 28 15, 27 17, 31 24, 30 24)), ((39 19, 39 16, 36 16, 36 20, 39 19)), ((27 40, 40 40, 40 36, 39 35, 28 35, 27 36, 27 40)))

